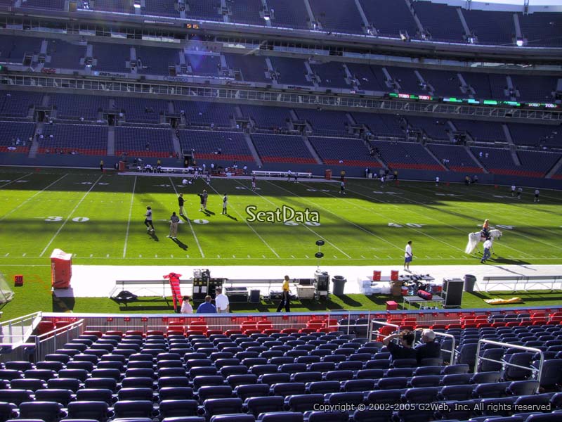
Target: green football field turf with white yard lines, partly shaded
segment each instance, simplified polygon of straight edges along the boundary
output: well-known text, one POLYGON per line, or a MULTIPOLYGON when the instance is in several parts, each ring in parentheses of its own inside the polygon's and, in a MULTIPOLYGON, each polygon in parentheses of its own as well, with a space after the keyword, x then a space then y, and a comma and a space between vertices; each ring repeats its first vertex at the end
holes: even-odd
MULTIPOLYGON (((339 184, 306 180, 299 184, 258 180, 255 193, 249 180, 215 178, 210 187, 204 181, 183 187, 181 177, 125 177, 80 170, 5 168, 0 170, 0 180, 5 180, 0 181, 0 271, 9 280, 13 274, 24 274, 26 280, 4 308, 4 319, 56 305, 49 291, 48 257, 53 248, 72 252, 74 264, 310 265, 315 264, 318 251, 315 241, 322 238, 326 241, 322 265, 398 265, 411 239, 416 263, 478 264, 475 256, 464 254, 466 235, 489 218, 492 226, 504 226, 492 264, 562 260, 558 242, 562 193, 556 191, 542 191, 541 202, 533 203, 531 189, 517 200, 505 187, 414 182, 380 186, 366 179, 348 181, 345 197, 339 195, 339 184), (207 215, 199 211, 196 196, 203 188, 209 191, 207 215), (177 211, 176 191, 184 193, 190 224, 181 224, 174 242, 166 235, 167 219, 177 211), (228 216, 221 215, 223 193, 230 197, 228 216), (143 224, 147 205, 154 212, 153 235, 143 224), (320 226, 249 223, 247 205, 258 210, 308 207, 319 212, 320 226), (203 219, 208 224, 197 224, 203 219)), ((376 300, 354 296, 349 296, 349 303, 334 299, 328 308, 381 306, 376 300)), ((464 306, 484 304, 481 298, 467 298, 472 297, 466 296, 464 306)), ((549 299, 544 300, 532 300, 532 305, 548 305, 549 299)), ((164 307, 154 307, 158 306, 164 307)), ((120 310, 100 299, 78 298, 72 307, 74 312, 120 310)))

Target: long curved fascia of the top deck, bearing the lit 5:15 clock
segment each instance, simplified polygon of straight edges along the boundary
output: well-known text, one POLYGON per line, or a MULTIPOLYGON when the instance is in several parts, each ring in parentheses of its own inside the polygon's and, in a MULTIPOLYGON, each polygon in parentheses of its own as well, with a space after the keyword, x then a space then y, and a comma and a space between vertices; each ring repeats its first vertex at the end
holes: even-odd
POLYGON ((462 44, 399 38, 375 37, 367 34, 341 34, 325 31, 295 30, 202 20, 185 20, 125 13, 94 11, 4 11, 0 17, 21 20, 44 20, 51 25, 95 25, 96 27, 129 28, 131 30, 166 30, 178 36, 223 37, 228 39, 253 39, 256 41, 311 44, 333 49, 381 53, 413 58, 438 58, 465 61, 488 61, 518 64, 560 64, 562 48, 518 47, 505 45, 462 44))

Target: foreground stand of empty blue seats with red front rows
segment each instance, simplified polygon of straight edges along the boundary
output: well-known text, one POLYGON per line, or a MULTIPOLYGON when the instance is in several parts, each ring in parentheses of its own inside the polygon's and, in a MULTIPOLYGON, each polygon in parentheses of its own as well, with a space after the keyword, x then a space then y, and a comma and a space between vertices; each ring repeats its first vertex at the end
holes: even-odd
MULTIPOLYGON (((244 316, 222 329, 211 318, 166 316, 151 318, 150 324, 159 324, 153 328, 86 330, 38 362, 2 364, 0 409, 4 420, 50 422, 559 420, 561 312, 441 312, 429 324, 414 315, 372 315, 393 325, 381 326, 371 341, 365 316, 312 316, 293 328, 244 316), (433 328, 441 357, 421 364, 391 360, 380 340, 396 326, 433 328), (478 360, 476 367, 480 340, 503 345, 481 343, 480 357, 492 360, 478 360), (398 403, 404 406, 367 410, 398 403), (355 407, 315 411, 324 404, 355 407), (535 410, 497 404, 532 404, 535 410), (541 413, 541 406, 549 410, 541 413)), ((46 338, 71 322, 44 318, 37 334, 46 338)))

